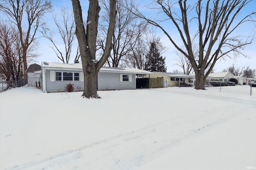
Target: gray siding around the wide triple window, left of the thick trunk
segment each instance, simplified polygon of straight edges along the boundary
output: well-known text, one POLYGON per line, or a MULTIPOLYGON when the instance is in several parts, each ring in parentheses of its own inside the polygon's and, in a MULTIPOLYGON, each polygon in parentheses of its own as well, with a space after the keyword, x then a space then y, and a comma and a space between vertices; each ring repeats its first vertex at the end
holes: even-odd
MULTIPOLYGON (((58 72, 58 71, 57 71, 58 72)), ((61 72, 73 72, 70 70, 61 70, 61 72)), ((78 71, 76 71, 78 72, 78 71)), ((84 90, 84 82, 79 81, 54 81, 50 82, 50 70, 46 70, 46 92, 65 92, 67 84, 74 84, 74 91, 78 91, 80 87, 81 91, 84 90)))

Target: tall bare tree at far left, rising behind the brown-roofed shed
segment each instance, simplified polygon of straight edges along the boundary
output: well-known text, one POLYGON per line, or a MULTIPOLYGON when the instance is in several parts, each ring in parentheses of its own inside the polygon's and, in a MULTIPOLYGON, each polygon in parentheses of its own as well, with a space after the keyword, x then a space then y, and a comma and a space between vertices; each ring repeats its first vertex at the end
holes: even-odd
MULTIPOLYGON (((44 25, 44 14, 52 10, 48 0, 3 0, 0 4, 9 20, 14 23, 19 31, 20 44, 22 46, 22 61, 24 70, 28 68, 27 51, 36 40, 36 31, 44 25)), ((24 73, 27 81, 27 74, 24 73)))

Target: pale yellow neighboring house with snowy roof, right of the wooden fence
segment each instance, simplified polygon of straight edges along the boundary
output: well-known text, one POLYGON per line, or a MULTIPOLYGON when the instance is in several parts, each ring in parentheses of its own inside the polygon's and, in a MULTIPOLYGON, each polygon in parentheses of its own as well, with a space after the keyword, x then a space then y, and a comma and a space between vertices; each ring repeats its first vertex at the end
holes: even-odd
POLYGON ((146 75, 145 78, 164 78, 164 87, 180 86, 180 83, 194 86, 195 75, 186 75, 172 72, 153 72, 153 75, 146 75))

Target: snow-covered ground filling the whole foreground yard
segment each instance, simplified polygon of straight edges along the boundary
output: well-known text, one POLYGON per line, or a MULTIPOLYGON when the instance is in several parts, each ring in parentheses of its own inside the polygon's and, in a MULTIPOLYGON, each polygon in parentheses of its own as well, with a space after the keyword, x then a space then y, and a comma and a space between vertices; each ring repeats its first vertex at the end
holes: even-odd
POLYGON ((1 170, 256 168, 256 88, 0 93, 1 170))

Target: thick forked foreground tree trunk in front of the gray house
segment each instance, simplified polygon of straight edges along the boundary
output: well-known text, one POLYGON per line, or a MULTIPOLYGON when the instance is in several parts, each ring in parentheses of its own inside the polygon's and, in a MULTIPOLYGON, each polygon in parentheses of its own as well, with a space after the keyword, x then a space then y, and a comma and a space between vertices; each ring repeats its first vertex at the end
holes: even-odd
POLYGON ((76 21, 76 37, 80 49, 84 72, 84 92, 85 98, 100 98, 97 94, 97 75, 104 65, 112 49, 112 36, 116 23, 116 0, 110 0, 110 19, 106 36, 106 44, 102 57, 96 60, 96 39, 98 33, 98 19, 100 6, 98 0, 90 0, 86 30, 82 18, 82 9, 79 0, 72 0, 74 18, 76 21))

